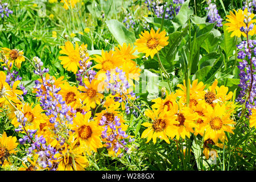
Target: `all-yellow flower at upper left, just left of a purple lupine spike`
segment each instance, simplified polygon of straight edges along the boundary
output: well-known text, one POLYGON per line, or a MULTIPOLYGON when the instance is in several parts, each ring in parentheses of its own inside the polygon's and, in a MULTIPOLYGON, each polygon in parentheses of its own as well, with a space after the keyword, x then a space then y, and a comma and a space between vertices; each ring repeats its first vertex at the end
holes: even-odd
POLYGON ((59 60, 61 60, 60 64, 63 65, 63 68, 67 69, 67 71, 71 71, 74 74, 76 74, 78 67, 79 67, 79 61, 80 61, 80 53, 79 53, 79 44, 76 43, 76 47, 73 47, 73 44, 71 42, 66 42, 65 46, 61 46, 61 54, 67 55, 67 56, 59 56, 59 60))

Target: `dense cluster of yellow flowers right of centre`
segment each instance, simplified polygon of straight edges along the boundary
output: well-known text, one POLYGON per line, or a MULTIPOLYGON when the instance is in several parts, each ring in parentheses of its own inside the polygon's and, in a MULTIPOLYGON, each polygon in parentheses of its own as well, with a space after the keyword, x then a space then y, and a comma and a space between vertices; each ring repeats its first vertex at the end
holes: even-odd
MULTIPOLYGON (((152 110, 145 111, 149 122, 142 123, 147 127, 142 133, 142 138, 151 139, 156 143, 156 138, 170 143, 170 139, 179 139, 191 134, 204 137, 205 154, 209 154, 207 143, 220 146, 224 142, 225 131, 233 133, 234 103, 230 101, 233 93, 228 93, 225 86, 217 86, 215 80, 205 90, 203 82, 194 80, 189 88, 189 104, 187 107, 187 88, 177 85, 180 89, 166 95, 165 98, 152 100, 152 110), (227 94, 228 93, 228 94, 227 94)), ((189 84, 190 85, 190 84, 189 84)), ((207 155, 206 155, 207 156, 207 155)))

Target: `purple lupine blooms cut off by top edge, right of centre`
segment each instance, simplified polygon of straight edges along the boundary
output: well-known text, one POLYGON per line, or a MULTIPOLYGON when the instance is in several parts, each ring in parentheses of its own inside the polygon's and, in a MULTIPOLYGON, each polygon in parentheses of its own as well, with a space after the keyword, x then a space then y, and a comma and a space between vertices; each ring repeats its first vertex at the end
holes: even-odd
MULTIPOLYGON (((162 17, 164 9, 167 6, 167 2, 161 3, 160 1, 145 0, 148 10, 153 10, 157 17, 162 17)), ((175 14, 177 15, 180 11, 180 5, 184 3, 184 0, 173 0, 173 4, 166 8, 165 19, 174 19, 175 14)))

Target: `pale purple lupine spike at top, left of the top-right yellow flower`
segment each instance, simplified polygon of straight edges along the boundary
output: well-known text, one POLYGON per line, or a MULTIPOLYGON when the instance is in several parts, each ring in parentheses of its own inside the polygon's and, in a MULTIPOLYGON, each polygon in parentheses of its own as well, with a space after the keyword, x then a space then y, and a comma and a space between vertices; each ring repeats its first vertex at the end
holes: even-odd
POLYGON ((207 1, 207 3, 208 7, 205 7, 205 10, 209 10, 207 15, 209 23, 216 23, 217 27, 222 27, 222 18, 218 14, 216 5, 214 3, 211 3, 211 1, 207 1))

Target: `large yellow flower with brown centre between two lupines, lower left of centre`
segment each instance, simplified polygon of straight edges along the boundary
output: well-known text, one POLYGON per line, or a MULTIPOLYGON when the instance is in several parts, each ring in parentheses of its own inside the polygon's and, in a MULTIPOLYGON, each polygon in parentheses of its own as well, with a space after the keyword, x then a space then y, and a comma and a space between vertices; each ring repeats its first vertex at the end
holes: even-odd
POLYGON ((75 143, 79 142, 80 146, 85 147, 88 151, 97 152, 97 148, 102 147, 101 128, 96 121, 90 121, 91 114, 91 111, 85 115, 77 113, 73 119, 71 130, 75 131, 75 143))

